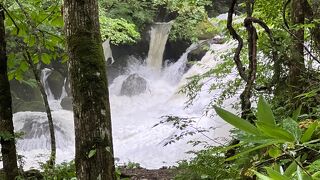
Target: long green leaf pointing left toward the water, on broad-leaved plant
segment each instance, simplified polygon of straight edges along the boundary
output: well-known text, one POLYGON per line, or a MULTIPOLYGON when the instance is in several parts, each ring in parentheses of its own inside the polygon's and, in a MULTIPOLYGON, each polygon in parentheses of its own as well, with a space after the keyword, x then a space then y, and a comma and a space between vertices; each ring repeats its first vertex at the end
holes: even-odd
POLYGON ((216 110, 217 114, 226 122, 230 123, 234 127, 245 131, 247 133, 259 135, 259 130, 252 124, 250 124, 248 121, 222 109, 217 106, 214 106, 214 109, 216 110))

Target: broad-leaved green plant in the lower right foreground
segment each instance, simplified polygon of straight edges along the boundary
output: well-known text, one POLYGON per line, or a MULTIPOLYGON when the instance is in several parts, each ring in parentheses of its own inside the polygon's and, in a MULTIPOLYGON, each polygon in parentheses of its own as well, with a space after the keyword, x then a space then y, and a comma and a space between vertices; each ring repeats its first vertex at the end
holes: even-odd
POLYGON ((293 113, 293 118, 275 121, 270 105, 260 97, 255 126, 219 107, 215 110, 223 120, 244 132, 239 133, 238 138, 245 148, 239 148, 234 156, 226 159, 237 160, 249 155, 253 165, 242 171, 255 172, 260 179, 311 179, 311 176, 318 176, 308 168, 314 158, 306 160, 308 151, 318 152, 320 149, 316 144, 318 137, 313 138, 318 123, 309 123, 306 130, 301 129, 302 124, 296 122, 301 107, 293 113), (258 150, 267 153, 259 154, 258 150))

